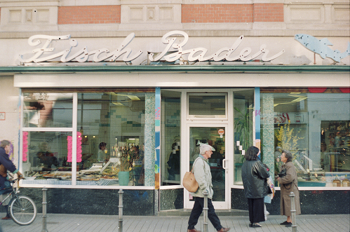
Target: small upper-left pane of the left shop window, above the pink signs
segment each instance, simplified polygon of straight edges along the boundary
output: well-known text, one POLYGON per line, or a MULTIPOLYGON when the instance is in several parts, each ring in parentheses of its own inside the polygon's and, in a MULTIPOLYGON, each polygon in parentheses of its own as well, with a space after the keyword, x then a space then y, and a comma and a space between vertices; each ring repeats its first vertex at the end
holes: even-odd
POLYGON ((23 93, 23 127, 72 128, 72 93, 23 93))

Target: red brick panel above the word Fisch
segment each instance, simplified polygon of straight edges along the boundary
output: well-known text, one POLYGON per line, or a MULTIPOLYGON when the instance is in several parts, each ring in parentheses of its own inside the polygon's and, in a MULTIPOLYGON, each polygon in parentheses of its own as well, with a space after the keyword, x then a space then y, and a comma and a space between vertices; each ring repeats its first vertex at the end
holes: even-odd
POLYGON ((121 6, 61 6, 58 24, 107 24, 121 22, 121 6))

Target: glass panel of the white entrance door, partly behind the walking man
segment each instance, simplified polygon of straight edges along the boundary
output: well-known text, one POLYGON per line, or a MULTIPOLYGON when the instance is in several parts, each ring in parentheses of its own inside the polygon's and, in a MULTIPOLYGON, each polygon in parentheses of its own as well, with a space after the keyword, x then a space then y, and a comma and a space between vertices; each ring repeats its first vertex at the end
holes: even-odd
POLYGON ((189 128, 190 170, 194 160, 198 157, 200 143, 208 143, 215 148, 209 158, 214 191, 213 201, 225 201, 225 172, 222 167, 222 161, 225 158, 225 132, 224 127, 189 128))

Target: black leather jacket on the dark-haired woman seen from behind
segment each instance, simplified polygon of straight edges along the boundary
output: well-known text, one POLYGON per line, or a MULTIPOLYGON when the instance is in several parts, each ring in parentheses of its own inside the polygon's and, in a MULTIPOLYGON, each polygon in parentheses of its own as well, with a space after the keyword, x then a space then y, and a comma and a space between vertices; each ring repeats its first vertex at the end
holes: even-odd
POLYGON ((242 180, 246 198, 263 198, 267 196, 265 187, 267 178, 270 176, 267 169, 257 161, 244 161, 242 165, 242 180))

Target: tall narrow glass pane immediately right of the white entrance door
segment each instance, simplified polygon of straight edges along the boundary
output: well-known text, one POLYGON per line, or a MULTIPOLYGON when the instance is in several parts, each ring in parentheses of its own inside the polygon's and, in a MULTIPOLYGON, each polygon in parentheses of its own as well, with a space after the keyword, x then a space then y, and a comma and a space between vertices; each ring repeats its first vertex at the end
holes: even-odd
POLYGON ((253 145, 253 104, 253 89, 234 92, 234 184, 243 184, 243 154, 253 145))

